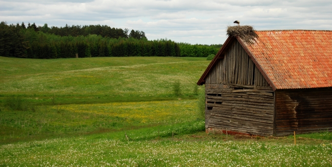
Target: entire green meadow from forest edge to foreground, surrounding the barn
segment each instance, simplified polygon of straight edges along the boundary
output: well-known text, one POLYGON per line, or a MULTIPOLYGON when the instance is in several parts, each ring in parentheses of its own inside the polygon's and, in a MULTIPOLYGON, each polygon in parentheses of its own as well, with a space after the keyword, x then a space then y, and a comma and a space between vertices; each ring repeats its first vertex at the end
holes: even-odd
POLYGON ((206 58, 0 57, 0 167, 332 166, 332 133, 205 133, 206 58))

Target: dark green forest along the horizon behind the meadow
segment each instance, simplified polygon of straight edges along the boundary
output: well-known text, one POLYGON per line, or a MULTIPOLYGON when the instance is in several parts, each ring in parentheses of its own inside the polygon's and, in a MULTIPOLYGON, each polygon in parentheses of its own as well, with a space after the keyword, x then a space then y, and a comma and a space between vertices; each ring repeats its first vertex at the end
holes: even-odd
POLYGON ((0 56, 31 59, 83 57, 207 57, 221 44, 201 45, 167 39, 147 40, 145 32, 107 25, 48 27, 0 23, 0 56))

